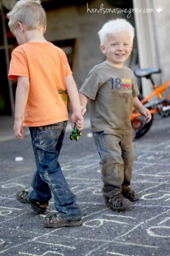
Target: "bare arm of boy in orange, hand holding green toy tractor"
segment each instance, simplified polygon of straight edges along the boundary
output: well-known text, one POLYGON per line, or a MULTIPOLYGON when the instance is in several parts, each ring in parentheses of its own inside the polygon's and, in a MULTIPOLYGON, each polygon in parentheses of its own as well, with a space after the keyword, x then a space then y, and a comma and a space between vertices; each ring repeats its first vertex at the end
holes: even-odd
POLYGON ((77 85, 74 81, 72 75, 66 77, 66 89, 68 92, 69 100, 72 106, 72 115, 71 115, 71 126, 74 128, 74 125, 77 125, 79 130, 83 129, 84 118, 81 114, 81 106, 79 100, 79 93, 77 90, 77 85))

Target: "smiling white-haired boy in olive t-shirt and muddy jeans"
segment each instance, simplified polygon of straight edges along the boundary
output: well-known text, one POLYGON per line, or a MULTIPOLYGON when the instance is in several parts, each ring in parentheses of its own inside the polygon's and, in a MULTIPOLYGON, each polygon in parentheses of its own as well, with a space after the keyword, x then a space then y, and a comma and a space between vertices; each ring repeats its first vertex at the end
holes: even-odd
POLYGON ((110 20, 99 31, 106 61, 90 70, 80 89, 82 113, 90 99, 91 130, 102 168, 105 203, 113 210, 128 208, 139 197, 130 187, 134 161, 130 115, 134 107, 151 119, 139 101, 133 72, 124 66, 130 56, 134 28, 124 19, 110 20))

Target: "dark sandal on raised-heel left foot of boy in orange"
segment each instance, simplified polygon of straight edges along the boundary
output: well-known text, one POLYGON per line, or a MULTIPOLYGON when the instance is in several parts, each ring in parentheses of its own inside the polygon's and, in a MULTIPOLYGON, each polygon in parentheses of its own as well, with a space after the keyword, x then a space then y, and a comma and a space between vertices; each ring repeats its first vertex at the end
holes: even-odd
MULTIPOLYGON (((16 199, 20 201, 22 204, 30 204, 31 208, 38 214, 44 213, 46 211, 46 207, 40 207, 40 203, 35 200, 30 200, 28 192, 25 190, 21 190, 16 194, 16 199)), ((48 203, 46 203, 48 205, 48 203)))

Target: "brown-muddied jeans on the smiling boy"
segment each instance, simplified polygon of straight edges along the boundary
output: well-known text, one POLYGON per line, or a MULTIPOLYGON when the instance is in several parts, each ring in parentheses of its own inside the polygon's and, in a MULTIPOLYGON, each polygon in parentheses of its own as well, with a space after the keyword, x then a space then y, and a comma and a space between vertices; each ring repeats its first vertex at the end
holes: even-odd
POLYGON ((130 185, 134 161, 131 135, 102 131, 93 132, 93 138, 101 158, 102 191, 105 197, 112 198, 123 184, 130 185))

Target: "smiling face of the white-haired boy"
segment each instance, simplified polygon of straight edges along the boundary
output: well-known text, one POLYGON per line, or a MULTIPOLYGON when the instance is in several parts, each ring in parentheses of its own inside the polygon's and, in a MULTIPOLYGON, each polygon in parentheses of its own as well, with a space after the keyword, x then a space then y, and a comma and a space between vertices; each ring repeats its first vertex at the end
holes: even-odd
POLYGON ((101 51, 106 55, 108 62, 117 68, 123 67, 132 48, 130 34, 123 31, 108 35, 106 43, 101 45, 101 51))

